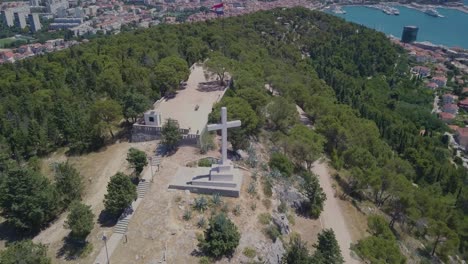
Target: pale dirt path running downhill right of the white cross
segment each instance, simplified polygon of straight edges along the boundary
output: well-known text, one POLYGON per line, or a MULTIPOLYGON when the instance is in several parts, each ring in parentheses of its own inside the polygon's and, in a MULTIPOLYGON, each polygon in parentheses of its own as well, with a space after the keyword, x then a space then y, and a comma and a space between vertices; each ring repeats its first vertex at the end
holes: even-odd
POLYGON ((319 176, 320 186, 327 195, 325 207, 320 215, 320 221, 323 228, 331 228, 335 231, 336 239, 340 245, 341 254, 346 264, 360 263, 351 257, 349 247, 353 242, 351 239, 351 230, 346 224, 346 219, 339 205, 339 200, 335 197, 335 190, 332 187, 331 176, 326 162, 316 161, 313 165, 312 172, 319 176))

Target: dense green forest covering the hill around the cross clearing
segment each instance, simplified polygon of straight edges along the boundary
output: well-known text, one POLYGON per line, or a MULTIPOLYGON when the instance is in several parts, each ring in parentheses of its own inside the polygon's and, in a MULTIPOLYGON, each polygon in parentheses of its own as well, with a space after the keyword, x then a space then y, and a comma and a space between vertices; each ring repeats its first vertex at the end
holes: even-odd
MULTIPOLYGON (((313 120, 347 195, 374 202, 392 230, 429 237, 428 254, 468 255, 466 170, 452 162, 446 127, 430 114, 433 95, 409 79, 407 56, 381 33, 302 8, 160 25, 0 66, 1 195, 15 199, 10 185, 18 175, 35 179, 31 192, 44 192, 51 183, 32 172, 35 157, 102 147, 116 136, 116 120, 133 122, 149 102, 174 92, 187 65, 212 56, 233 79, 222 102, 244 114, 230 112, 243 119, 235 147, 248 146, 262 128, 293 138, 296 120, 285 114, 295 114, 288 107, 295 103, 313 120), (277 107, 267 107, 265 84, 281 94, 277 107), (276 121, 275 108, 283 110, 276 121)), ((8 199, 0 199, 6 219, 26 217, 12 216, 8 199)), ((63 208, 47 201, 35 205, 38 213, 63 208)), ((37 230, 52 218, 19 227, 37 230)), ((388 240, 372 236, 357 250, 377 258, 366 246, 391 251, 396 244, 388 240)))

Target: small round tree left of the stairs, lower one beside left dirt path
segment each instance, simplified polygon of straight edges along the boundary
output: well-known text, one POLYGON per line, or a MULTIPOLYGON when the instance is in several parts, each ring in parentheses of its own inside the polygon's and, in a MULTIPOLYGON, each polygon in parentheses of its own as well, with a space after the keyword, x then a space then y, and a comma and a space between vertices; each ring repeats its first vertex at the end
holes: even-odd
POLYGON ((91 230, 93 230, 93 219, 94 214, 91 211, 91 206, 77 201, 73 202, 70 205, 70 213, 65 222, 67 228, 71 230, 70 237, 85 241, 91 230))

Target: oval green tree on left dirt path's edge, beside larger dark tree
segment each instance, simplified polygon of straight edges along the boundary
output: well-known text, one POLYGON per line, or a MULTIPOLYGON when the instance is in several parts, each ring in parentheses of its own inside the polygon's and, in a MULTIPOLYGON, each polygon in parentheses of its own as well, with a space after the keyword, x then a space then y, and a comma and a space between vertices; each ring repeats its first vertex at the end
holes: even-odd
POLYGON ((67 207, 72 201, 81 200, 83 177, 68 162, 59 163, 55 167, 55 188, 62 207, 67 207))

